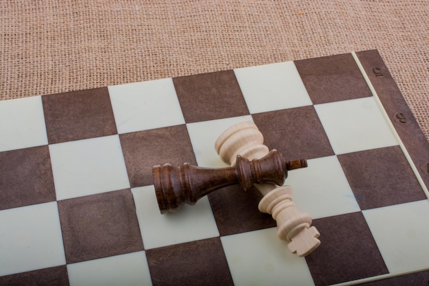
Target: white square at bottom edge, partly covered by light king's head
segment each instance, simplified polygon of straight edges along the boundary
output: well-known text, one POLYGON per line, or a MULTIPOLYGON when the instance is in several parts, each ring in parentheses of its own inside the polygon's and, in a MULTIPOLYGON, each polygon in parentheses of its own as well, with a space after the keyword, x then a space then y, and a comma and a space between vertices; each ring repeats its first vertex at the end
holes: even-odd
POLYGON ((234 285, 314 285, 306 260, 292 254, 277 228, 221 237, 234 285))

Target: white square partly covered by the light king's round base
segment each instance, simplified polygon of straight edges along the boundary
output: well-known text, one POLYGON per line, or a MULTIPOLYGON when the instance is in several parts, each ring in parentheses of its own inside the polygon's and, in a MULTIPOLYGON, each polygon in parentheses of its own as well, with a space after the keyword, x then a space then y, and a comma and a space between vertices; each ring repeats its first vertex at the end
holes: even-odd
POLYGON ((200 167, 229 167, 217 154, 215 142, 223 131, 243 121, 253 122, 252 116, 245 115, 186 124, 195 158, 200 167))

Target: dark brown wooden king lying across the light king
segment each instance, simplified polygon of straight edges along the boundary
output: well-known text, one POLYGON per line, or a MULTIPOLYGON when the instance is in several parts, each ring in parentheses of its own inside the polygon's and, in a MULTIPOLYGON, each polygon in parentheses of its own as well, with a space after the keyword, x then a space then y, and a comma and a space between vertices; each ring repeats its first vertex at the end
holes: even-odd
POLYGON ((195 204, 204 195, 232 184, 240 184, 244 191, 254 183, 282 185, 288 170, 302 167, 307 167, 306 160, 286 161, 277 150, 272 150, 254 160, 238 155, 234 167, 205 168, 189 163, 180 167, 170 163, 155 165, 153 176, 161 213, 174 213, 183 204, 195 204))

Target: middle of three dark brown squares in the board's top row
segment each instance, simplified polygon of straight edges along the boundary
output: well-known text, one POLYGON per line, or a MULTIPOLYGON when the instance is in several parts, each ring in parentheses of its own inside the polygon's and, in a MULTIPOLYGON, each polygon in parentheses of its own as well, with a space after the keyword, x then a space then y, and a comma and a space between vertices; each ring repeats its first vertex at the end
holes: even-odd
POLYGON ((173 78, 186 123, 248 115, 234 71, 173 78))

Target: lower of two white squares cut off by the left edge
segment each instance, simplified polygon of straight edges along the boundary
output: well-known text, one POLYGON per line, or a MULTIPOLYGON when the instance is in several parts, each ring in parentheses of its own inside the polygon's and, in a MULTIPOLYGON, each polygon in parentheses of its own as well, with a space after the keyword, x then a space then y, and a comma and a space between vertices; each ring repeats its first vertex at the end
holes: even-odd
POLYGON ((0 211, 0 276, 64 264, 56 202, 0 211))

